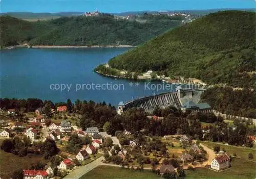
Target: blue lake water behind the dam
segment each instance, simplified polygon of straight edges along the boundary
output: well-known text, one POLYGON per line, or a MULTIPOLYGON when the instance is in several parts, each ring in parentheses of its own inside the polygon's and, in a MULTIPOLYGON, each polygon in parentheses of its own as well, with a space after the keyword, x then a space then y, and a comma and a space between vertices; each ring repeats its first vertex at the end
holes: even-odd
POLYGON ((93 69, 129 48, 1 50, 0 97, 76 99, 117 105, 119 101, 170 91, 161 82, 113 79, 93 69), (83 85, 82 85, 83 84, 83 85), (156 85, 159 89, 156 89, 156 85), (68 86, 67 86, 68 85, 68 86), (145 86, 146 85, 146 86, 145 86), (62 89, 58 89, 62 86, 62 89))

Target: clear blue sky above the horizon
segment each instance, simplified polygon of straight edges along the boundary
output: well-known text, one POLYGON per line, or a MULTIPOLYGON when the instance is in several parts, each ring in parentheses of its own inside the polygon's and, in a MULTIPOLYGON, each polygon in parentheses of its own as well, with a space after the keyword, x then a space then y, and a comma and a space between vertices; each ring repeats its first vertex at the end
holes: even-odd
POLYGON ((0 0, 1 12, 127 12, 256 8, 256 0, 0 0))

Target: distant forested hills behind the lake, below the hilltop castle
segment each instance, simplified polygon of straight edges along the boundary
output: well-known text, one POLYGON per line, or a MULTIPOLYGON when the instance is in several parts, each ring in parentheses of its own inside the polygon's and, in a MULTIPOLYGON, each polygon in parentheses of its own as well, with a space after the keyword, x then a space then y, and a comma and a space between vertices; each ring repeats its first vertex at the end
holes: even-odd
POLYGON ((181 24, 171 17, 145 22, 98 17, 60 17, 28 22, 1 16, 2 46, 29 42, 30 45, 138 45, 181 24))

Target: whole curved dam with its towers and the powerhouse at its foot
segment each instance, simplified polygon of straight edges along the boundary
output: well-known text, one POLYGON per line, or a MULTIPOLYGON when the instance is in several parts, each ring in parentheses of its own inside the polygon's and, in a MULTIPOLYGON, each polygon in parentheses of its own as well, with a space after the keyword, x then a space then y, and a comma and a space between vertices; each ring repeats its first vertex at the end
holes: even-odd
POLYGON ((136 98, 127 101, 125 104, 120 101, 118 114, 133 107, 142 108, 147 113, 153 113, 157 107, 164 109, 168 106, 174 106, 178 109, 182 109, 182 111, 211 112, 212 108, 208 104, 199 103, 200 96, 204 91, 205 89, 182 89, 181 87, 177 87, 175 91, 136 98))

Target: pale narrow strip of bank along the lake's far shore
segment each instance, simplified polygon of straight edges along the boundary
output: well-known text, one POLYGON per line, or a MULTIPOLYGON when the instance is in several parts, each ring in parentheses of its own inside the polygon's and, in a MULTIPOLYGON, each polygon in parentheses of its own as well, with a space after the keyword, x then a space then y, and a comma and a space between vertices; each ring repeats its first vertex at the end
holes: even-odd
POLYGON ((72 46, 72 45, 32 45, 30 48, 127 48, 136 47, 133 45, 84 45, 84 46, 72 46))

